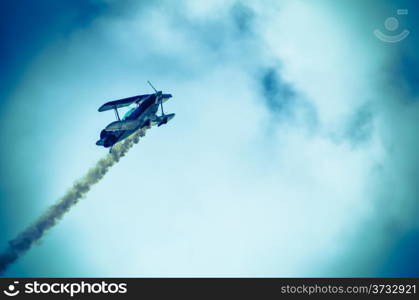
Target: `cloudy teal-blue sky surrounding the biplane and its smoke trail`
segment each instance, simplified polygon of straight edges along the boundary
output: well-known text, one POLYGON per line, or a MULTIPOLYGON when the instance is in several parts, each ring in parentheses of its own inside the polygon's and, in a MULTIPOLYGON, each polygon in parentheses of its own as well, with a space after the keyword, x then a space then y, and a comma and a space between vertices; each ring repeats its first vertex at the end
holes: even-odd
POLYGON ((104 102, 176 113, 6 276, 419 275, 415 1, 1 5, 0 247, 107 153, 104 102))

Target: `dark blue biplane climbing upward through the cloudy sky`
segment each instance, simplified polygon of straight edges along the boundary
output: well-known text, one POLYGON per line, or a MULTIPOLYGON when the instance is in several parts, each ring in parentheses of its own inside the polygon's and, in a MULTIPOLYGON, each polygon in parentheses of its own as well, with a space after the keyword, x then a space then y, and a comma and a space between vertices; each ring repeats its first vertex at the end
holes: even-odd
POLYGON ((169 122, 175 114, 165 114, 163 110, 163 103, 172 98, 171 94, 163 94, 162 91, 157 91, 150 81, 148 84, 154 90, 154 94, 137 95, 119 100, 106 102, 99 111, 114 110, 116 121, 110 123, 100 133, 100 139, 96 145, 105 148, 111 148, 116 143, 126 139, 131 134, 139 129, 151 128, 157 125, 160 127, 169 122), (130 106, 135 104, 135 107, 129 109, 122 119, 119 117, 118 108, 130 106), (157 115, 157 111, 161 108, 161 115, 157 115))

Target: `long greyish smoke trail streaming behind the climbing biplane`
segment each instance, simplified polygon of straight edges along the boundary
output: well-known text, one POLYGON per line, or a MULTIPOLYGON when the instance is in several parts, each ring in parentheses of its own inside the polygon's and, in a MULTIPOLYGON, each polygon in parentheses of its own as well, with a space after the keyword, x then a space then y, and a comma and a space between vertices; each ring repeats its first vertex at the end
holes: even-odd
POLYGON ((3 274, 10 264, 26 253, 35 242, 39 241, 48 229, 56 225, 64 214, 87 194, 91 186, 99 182, 110 167, 117 163, 134 144, 138 143, 139 138, 145 135, 145 131, 146 129, 140 129, 131 137, 113 147, 112 153, 100 159, 82 179, 74 183, 73 187, 57 203, 50 206, 35 223, 11 240, 6 251, 0 254, 0 274, 3 274))

